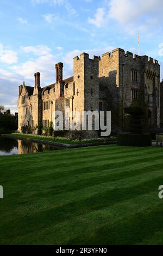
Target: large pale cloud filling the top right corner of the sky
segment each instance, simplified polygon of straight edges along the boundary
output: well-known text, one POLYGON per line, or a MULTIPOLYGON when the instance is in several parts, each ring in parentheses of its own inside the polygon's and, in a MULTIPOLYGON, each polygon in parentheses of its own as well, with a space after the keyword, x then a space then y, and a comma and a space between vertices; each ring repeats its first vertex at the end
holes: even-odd
POLYGON ((108 19, 116 20, 129 33, 153 32, 162 20, 162 0, 111 0, 108 19))

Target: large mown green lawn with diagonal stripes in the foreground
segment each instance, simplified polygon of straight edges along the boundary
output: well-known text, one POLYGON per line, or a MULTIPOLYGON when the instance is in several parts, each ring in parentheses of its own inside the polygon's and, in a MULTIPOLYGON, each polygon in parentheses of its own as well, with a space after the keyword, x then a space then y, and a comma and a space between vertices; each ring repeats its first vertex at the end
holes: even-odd
POLYGON ((163 244, 163 149, 116 145, 0 157, 3 245, 163 244))

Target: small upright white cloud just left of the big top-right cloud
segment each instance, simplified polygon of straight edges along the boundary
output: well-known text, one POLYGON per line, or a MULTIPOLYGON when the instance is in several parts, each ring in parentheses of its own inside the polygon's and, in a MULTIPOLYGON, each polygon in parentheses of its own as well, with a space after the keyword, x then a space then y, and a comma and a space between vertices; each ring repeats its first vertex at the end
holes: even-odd
POLYGON ((95 18, 92 19, 89 17, 88 22, 96 27, 103 27, 106 23, 105 9, 98 8, 96 10, 95 18))

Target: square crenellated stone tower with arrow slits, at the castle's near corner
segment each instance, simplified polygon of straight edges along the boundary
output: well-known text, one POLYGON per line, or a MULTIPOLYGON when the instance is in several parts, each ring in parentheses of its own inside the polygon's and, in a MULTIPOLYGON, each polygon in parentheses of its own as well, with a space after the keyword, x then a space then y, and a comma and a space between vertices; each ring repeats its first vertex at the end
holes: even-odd
POLYGON ((73 109, 79 111, 80 116, 83 111, 99 110, 98 63, 99 58, 94 56, 90 59, 88 53, 82 53, 80 58, 74 58, 73 109))

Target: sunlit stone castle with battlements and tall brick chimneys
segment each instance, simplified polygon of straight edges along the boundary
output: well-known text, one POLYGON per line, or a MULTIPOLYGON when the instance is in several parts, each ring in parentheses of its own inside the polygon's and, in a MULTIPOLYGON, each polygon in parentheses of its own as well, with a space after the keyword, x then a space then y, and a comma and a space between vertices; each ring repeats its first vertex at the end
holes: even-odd
MULTIPOLYGON (((148 56, 138 56, 118 48, 89 58, 82 53, 73 59, 73 76, 63 80, 63 63, 55 64, 56 82, 41 88, 40 73, 35 73, 35 86, 19 86, 18 130, 24 125, 48 127, 55 111, 111 111, 111 129, 116 132, 121 102, 129 106, 143 87, 151 129, 160 127, 160 65, 148 56)), ((66 114, 67 115, 67 114, 66 114)), ((70 116, 66 116, 70 120, 70 116)), ((76 115, 74 115, 74 120, 76 115)), ((87 131, 98 136, 97 131, 87 131)))

